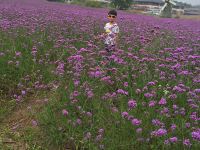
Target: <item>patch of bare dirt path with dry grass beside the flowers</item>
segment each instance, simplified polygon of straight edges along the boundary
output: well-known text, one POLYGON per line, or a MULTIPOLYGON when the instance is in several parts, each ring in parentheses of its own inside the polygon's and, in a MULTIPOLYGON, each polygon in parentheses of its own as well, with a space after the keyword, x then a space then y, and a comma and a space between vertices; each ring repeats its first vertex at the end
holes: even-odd
POLYGON ((28 150, 31 147, 23 139, 27 127, 37 128, 35 114, 47 99, 31 99, 19 103, 7 118, 0 122, 0 150, 28 150))

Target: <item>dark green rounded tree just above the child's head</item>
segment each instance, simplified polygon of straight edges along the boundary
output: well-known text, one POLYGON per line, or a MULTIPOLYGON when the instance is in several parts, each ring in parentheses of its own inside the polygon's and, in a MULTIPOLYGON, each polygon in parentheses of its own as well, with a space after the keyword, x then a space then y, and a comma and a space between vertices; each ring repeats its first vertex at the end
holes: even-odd
POLYGON ((115 8, 124 10, 131 6, 132 0, 111 0, 111 4, 113 4, 115 8))

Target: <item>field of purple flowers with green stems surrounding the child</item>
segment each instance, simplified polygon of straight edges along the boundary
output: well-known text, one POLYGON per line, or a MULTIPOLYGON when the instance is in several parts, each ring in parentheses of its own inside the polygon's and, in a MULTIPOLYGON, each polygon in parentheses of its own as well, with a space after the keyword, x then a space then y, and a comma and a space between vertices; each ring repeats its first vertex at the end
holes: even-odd
POLYGON ((200 22, 119 11, 108 65, 107 11, 0 0, 0 119, 45 92, 48 149, 199 149, 200 22))

